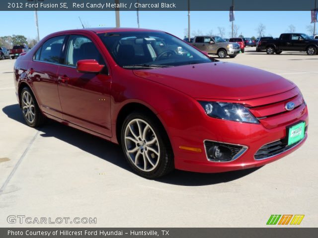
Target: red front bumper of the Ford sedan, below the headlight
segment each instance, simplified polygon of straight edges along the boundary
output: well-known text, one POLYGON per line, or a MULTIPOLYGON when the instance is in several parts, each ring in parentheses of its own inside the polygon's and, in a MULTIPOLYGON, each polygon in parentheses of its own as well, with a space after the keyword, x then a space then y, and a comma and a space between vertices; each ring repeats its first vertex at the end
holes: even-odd
MULTIPOLYGON (((168 112, 167 112, 168 113, 168 112)), ((296 149, 298 149, 307 139, 305 138, 292 148, 282 153, 262 160, 255 160, 256 152, 265 144, 284 139, 286 137, 286 127, 297 121, 305 121, 308 127, 308 109, 307 106, 302 110, 301 115, 293 115, 295 120, 288 123, 281 123, 277 118, 277 127, 268 129, 260 124, 239 123, 222 119, 209 118, 202 114, 197 116, 187 115, 187 119, 179 122, 176 127, 168 128, 169 137, 173 147, 175 168, 179 170, 200 172, 200 173, 220 173, 234 170, 242 170, 253 167, 260 167, 278 160, 296 149), (190 121, 196 121, 197 126, 189 126, 190 121), (230 162, 209 161, 204 141, 218 141, 229 144, 239 144, 247 147, 243 154, 230 162), (201 152, 186 151, 180 149, 180 146, 200 148, 201 152)), ((165 117, 161 115, 161 117, 165 117)))

